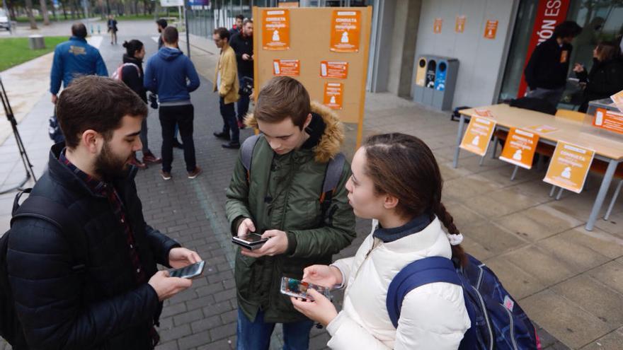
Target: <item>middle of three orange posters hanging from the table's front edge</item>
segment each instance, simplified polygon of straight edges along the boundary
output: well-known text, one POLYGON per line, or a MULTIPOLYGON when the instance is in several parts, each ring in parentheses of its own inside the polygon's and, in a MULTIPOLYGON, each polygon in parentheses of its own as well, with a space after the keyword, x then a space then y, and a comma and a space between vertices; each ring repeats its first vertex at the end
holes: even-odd
POLYGON ((539 135, 522 129, 510 128, 500 159, 522 168, 532 168, 539 135))

